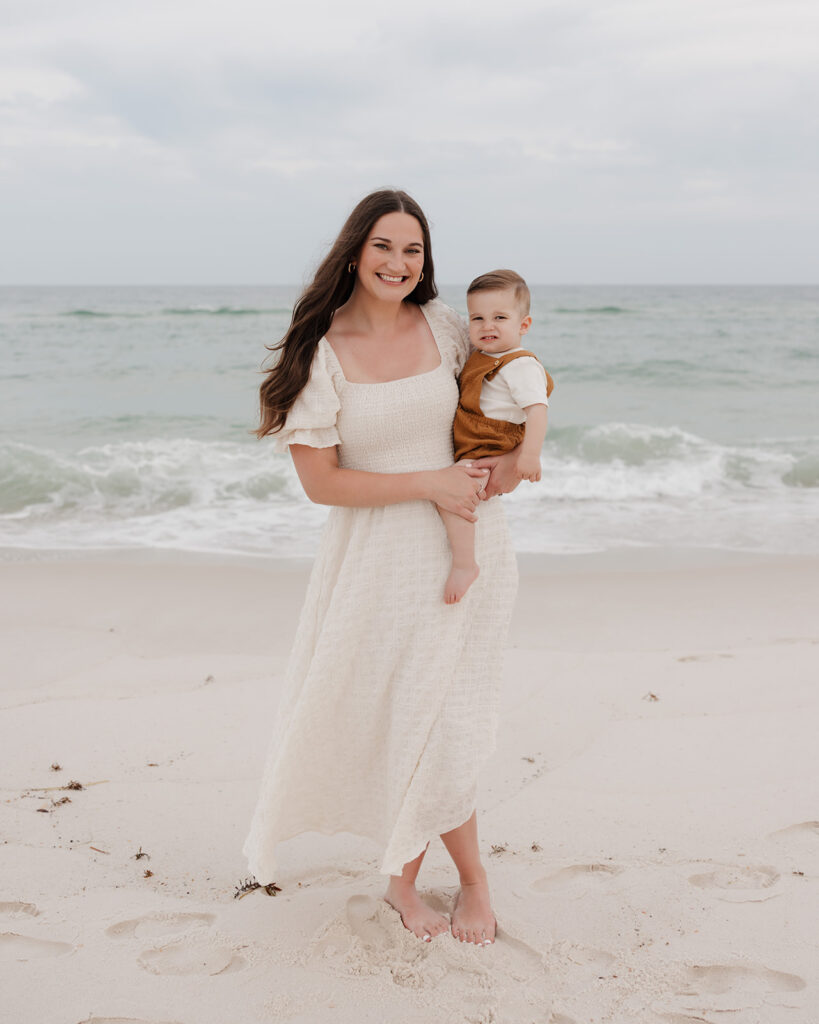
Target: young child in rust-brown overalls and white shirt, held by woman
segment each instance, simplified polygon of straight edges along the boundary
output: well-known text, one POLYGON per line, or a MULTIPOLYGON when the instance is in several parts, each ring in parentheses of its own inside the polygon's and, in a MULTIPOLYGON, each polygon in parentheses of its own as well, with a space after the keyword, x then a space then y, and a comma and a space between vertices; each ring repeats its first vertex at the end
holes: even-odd
MULTIPOLYGON (((483 273, 467 289, 467 308, 474 351, 461 373, 452 425, 456 462, 503 455, 520 444, 517 478, 540 480, 554 382, 537 357, 520 344, 531 327, 526 282, 514 270, 483 273)), ((455 604, 478 577, 475 524, 439 511, 452 551, 443 599, 455 604)))

